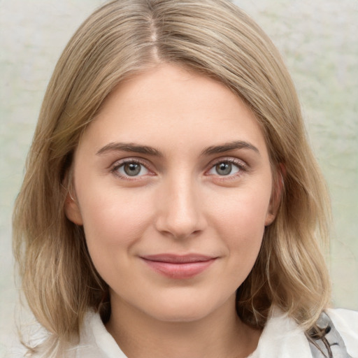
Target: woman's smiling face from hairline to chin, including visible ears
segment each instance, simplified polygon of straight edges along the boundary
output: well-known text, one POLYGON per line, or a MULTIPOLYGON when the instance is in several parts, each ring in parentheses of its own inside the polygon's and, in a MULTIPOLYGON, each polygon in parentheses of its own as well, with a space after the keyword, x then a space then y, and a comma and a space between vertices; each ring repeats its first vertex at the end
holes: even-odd
POLYGON ((241 99, 158 66, 110 94, 73 165, 66 215, 113 307, 172 322, 234 310, 274 219, 268 150, 241 99))

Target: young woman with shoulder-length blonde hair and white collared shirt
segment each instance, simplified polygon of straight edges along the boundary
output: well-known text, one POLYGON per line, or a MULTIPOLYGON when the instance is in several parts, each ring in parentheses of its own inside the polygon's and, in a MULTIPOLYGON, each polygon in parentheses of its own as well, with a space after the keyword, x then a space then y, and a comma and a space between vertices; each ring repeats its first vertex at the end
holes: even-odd
POLYGON ((357 357, 357 314, 327 310, 322 183, 292 80, 241 10, 106 4, 59 59, 15 206, 49 332, 32 355, 357 357))

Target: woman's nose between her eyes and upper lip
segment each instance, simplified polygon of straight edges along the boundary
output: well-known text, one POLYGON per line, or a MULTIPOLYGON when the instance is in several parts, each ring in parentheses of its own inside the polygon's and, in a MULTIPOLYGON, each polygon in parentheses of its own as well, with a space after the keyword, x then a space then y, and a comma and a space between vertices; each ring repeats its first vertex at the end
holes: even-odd
POLYGON ((157 196, 156 229, 173 238, 188 238, 206 227, 199 189, 190 178, 167 180, 157 196))

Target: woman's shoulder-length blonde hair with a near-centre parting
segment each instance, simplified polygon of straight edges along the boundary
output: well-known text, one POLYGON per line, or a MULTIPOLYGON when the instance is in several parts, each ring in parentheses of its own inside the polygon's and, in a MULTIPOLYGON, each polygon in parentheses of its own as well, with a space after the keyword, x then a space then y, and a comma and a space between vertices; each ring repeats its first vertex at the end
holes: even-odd
POLYGON ((328 232, 327 192, 294 85, 271 40, 225 0, 112 1, 82 24, 57 63, 15 203, 15 258, 29 307, 50 331, 48 357, 51 350, 59 357, 60 346, 78 337, 87 310, 98 310, 104 321, 110 315, 108 287, 83 228, 64 214, 73 152, 120 81, 165 62, 220 81, 250 106, 275 180, 282 180, 278 215, 238 289, 241 320, 262 328, 275 305, 309 329, 329 302, 320 249, 328 232))

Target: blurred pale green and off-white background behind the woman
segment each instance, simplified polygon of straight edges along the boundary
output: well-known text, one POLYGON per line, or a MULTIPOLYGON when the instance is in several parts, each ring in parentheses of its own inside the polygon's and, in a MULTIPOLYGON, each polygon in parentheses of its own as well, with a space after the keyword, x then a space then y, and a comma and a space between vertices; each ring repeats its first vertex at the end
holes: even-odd
MULTIPOLYGON (((331 191, 333 303, 358 309, 358 1, 235 2, 273 38, 292 73, 331 191)), ((24 159, 55 62, 101 3, 0 1, 0 357, 15 337, 10 215, 24 159)))

